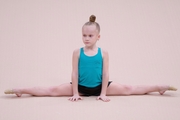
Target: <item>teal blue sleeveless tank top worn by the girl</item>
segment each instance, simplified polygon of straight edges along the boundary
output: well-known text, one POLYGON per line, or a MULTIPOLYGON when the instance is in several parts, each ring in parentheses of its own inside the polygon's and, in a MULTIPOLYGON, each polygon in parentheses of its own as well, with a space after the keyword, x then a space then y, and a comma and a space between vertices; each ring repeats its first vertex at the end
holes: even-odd
POLYGON ((96 87, 102 84, 103 59, 101 49, 94 56, 84 54, 84 49, 80 49, 78 61, 78 84, 85 87, 96 87))

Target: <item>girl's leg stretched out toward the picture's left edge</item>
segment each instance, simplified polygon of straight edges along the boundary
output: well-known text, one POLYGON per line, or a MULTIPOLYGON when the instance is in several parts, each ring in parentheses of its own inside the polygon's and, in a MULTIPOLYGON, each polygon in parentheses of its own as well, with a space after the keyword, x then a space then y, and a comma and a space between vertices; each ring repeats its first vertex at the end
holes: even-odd
POLYGON ((59 86, 52 87, 32 87, 32 88, 16 88, 5 91, 5 94, 16 94, 21 97, 22 94, 34 96, 72 96, 72 84, 65 83, 59 86))

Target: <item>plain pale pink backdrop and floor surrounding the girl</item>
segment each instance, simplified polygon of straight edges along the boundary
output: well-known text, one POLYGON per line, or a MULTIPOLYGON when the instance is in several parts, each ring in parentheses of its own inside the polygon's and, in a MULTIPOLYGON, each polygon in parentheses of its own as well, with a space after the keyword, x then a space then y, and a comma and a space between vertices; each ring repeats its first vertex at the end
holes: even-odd
POLYGON ((0 0, 0 120, 179 120, 179 91, 109 103, 3 93, 69 82, 72 52, 83 46, 81 28, 91 14, 101 26, 97 45, 109 51, 111 80, 180 88, 179 6, 179 0, 0 0))

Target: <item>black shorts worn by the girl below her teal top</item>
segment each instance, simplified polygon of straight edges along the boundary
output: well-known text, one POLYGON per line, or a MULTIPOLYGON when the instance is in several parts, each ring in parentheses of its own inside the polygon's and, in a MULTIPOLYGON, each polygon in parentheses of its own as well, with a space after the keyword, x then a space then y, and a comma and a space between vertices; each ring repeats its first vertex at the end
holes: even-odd
MULTIPOLYGON (((108 82, 108 86, 111 84, 111 82, 112 81, 108 82)), ((102 88, 102 85, 99 85, 94 88, 78 85, 78 92, 81 93, 83 96, 99 96, 101 94, 101 88, 102 88)))

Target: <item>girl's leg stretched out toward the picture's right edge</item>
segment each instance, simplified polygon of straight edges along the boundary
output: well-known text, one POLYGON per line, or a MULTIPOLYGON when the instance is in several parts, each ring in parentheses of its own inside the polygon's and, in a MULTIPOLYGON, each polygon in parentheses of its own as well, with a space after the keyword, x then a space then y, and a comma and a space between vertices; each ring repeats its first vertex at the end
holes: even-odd
POLYGON ((159 92, 161 95, 164 94, 166 90, 176 91, 176 88, 172 88, 168 85, 121 85, 112 82, 107 88, 107 95, 143 95, 150 92, 159 92))

